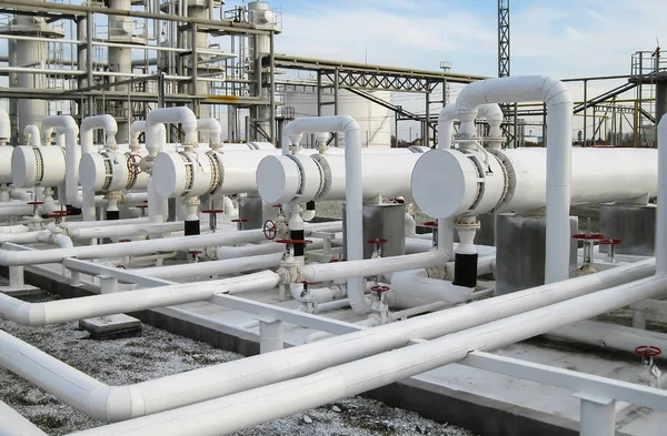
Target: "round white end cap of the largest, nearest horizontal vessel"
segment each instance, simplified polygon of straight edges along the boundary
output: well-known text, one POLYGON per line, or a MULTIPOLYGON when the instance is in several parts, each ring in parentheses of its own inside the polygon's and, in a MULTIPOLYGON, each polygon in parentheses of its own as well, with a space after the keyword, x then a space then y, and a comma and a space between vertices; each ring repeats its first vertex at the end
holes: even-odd
POLYGON ((458 216, 472 205, 476 194, 477 171, 458 151, 431 150, 415 164, 412 196, 430 216, 458 216))

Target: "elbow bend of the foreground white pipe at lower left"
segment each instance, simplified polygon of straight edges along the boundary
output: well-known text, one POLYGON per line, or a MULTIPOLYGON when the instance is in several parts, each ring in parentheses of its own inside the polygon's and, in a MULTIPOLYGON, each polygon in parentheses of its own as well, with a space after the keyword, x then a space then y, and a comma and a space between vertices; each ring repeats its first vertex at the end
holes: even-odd
POLYGON ((94 419, 118 423, 146 415, 146 400, 131 386, 98 386, 88 398, 86 414, 94 419))

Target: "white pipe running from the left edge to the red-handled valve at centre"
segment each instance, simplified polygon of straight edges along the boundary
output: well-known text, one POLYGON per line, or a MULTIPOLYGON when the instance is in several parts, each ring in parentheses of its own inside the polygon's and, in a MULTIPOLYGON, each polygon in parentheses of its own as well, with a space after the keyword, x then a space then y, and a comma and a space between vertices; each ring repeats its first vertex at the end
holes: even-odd
MULTIPOLYGON (((202 282, 197 286, 193 286, 192 283, 171 284, 44 303, 28 303, 0 294, 0 313, 6 320, 21 325, 60 324, 96 316, 198 302, 209 300, 215 294, 270 290, 278 284, 278 274, 263 271, 239 277, 202 282)), ((7 362, 2 362, 2 365, 8 367, 7 362)), ((14 371, 12 369, 12 372, 14 371)))

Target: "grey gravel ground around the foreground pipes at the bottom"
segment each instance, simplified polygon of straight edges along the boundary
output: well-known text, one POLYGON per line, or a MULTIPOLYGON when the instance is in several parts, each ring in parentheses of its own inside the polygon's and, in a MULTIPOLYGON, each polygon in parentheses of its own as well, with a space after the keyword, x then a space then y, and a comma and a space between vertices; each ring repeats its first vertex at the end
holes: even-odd
MULTIPOLYGON (((102 342, 89 339, 87 332, 77 328, 77 323, 36 328, 0 321, 0 328, 110 385, 138 383, 241 357, 149 325, 143 325, 140 337, 102 342)), ((103 425, 2 368, 0 399, 53 436, 103 425)), ((236 435, 475 436, 360 397, 277 419, 236 435)))

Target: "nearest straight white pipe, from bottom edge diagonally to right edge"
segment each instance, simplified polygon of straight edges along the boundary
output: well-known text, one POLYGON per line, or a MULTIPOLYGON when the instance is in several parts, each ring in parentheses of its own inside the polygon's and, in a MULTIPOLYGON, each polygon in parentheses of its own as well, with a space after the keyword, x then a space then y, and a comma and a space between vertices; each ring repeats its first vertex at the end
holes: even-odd
MULTIPOLYGON (((633 304, 638 300, 658 295, 666 290, 667 278, 653 276, 482 324, 430 342, 330 366, 305 377, 79 432, 71 436, 228 435, 404 381, 460 361, 472 351, 494 349, 514 344, 573 322, 633 304)), ((278 352, 268 355, 275 357, 276 353, 278 352)))

